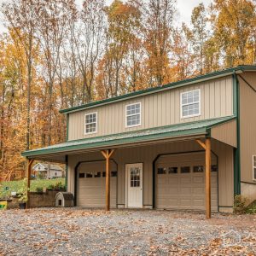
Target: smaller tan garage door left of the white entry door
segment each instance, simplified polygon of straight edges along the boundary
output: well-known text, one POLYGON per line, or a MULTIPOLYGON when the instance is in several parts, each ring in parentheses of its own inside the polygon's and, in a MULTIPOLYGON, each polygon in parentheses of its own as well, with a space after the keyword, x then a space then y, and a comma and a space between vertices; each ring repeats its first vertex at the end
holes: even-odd
MULTIPOLYGON (((117 166, 110 161, 110 207, 116 207, 117 166)), ((78 170, 77 206, 106 206, 105 161, 82 163, 78 170)))

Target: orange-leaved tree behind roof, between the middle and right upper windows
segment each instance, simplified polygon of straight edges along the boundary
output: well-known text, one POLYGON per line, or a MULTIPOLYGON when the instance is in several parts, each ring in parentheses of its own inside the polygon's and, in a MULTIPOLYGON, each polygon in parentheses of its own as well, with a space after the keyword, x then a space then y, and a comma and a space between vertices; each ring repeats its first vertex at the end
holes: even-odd
POLYGON ((143 36, 150 86, 164 84, 170 79, 168 69, 175 3, 175 0, 137 1, 144 17, 143 36))

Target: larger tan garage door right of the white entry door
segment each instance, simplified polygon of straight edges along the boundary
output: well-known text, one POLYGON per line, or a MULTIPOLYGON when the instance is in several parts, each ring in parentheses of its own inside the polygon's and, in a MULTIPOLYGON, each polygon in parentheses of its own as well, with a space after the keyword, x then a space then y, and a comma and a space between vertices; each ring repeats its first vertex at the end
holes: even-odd
MULTIPOLYGON (((205 154, 170 154, 156 163, 156 207, 205 210, 205 154)), ((212 154, 212 211, 218 210, 218 166, 212 154)))

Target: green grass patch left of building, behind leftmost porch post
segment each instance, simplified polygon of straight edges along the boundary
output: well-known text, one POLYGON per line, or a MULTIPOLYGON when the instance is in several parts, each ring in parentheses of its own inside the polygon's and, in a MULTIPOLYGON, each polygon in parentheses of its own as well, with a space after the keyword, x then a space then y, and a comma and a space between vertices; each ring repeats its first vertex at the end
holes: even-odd
MULTIPOLYGON (((18 192, 22 187, 22 183, 22 180, 0 183, 0 198, 9 197, 12 191, 18 192), (6 187, 8 187, 9 190, 6 190, 6 187)), ((59 177, 55 179, 35 179, 31 181, 30 191, 37 192, 38 188, 53 188, 57 183, 65 185, 65 178, 59 177)))

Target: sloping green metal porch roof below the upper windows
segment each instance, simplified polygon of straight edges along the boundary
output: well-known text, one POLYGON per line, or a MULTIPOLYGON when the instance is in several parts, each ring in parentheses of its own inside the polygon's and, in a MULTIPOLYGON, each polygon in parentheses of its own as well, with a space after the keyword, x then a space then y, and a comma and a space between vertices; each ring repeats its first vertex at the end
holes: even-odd
POLYGON ((104 148, 118 146, 127 143, 150 142, 165 139, 168 137, 186 137, 200 134, 207 134, 208 130, 215 125, 235 119, 234 116, 206 119, 189 123, 167 125, 156 128, 144 129, 140 131, 128 131, 108 136, 84 138, 80 140, 68 141, 66 143, 55 144, 46 148, 38 148, 22 152, 22 156, 35 157, 42 154, 65 153, 76 150, 90 148, 104 148))

